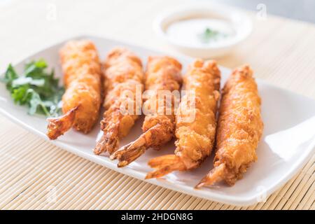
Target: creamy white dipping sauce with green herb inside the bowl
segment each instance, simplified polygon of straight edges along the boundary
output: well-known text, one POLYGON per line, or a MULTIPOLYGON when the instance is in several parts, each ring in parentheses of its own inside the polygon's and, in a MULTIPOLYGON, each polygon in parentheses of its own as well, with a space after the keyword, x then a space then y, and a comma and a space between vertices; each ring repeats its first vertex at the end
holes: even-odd
POLYGON ((167 36, 184 45, 204 47, 218 45, 235 36, 235 29, 230 22, 211 18, 179 20, 167 27, 167 36), (207 35, 207 31, 215 35, 207 35))

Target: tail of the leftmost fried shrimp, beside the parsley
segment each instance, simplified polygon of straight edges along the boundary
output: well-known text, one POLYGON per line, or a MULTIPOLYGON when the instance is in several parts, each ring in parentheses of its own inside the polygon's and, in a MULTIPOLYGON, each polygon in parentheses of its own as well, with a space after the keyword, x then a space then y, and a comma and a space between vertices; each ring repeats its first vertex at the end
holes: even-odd
POLYGON ((51 140, 57 139, 57 137, 68 131, 73 126, 77 110, 78 106, 58 118, 48 118, 48 138, 51 140))

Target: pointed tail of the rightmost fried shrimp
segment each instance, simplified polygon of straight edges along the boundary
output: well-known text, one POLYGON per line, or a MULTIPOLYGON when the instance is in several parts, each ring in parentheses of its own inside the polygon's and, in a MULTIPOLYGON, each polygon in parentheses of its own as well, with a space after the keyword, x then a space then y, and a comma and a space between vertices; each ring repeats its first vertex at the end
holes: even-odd
POLYGON ((195 188, 202 188, 203 186, 211 186, 214 183, 223 181, 225 175, 225 164, 222 163, 218 167, 214 167, 204 178, 195 186, 195 188))

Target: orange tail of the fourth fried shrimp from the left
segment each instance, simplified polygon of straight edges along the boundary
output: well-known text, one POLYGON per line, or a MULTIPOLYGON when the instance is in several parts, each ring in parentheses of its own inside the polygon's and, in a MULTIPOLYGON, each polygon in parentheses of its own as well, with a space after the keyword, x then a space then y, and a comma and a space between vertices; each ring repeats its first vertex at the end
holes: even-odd
POLYGON ((146 179, 158 178, 165 176, 173 171, 186 170, 186 166, 181 158, 176 155, 162 155, 158 158, 153 158, 148 162, 148 165, 157 170, 146 174, 146 179))

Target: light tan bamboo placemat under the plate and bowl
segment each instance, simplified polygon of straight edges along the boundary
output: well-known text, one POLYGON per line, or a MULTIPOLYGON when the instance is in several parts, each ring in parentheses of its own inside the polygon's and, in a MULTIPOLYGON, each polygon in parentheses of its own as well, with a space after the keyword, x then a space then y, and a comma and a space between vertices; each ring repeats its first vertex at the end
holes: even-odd
MULTIPOLYGON (((0 49, 6 52, 0 55, 1 71, 9 62, 83 32, 172 52, 153 34, 151 23, 160 10, 183 2, 13 1, 0 7, 0 49), (50 20, 47 15, 54 6, 57 18, 50 20)), ((315 99, 315 26, 248 15, 253 18, 253 34, 219 64, 230 68, 251 64, 256 77, 315 99)), ((106 169, 0 116, 0 209, 315 209, 314 162, 315 156, 265 203, 235 207, 106 169)))

